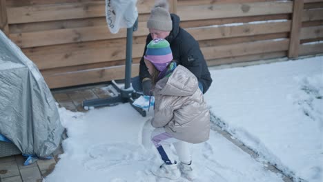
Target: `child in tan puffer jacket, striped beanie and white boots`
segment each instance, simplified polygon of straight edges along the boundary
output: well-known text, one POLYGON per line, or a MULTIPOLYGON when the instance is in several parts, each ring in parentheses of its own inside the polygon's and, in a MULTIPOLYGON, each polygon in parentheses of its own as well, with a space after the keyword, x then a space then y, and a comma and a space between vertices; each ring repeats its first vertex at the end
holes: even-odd
POLYGON ((151 75, 155 94, 155 130, 151 139, 164 164, 153 170, 156 176, 193 180, 189 143, 208 140, 210 114, 197 78, 182 65, 176 65, 168 41, 154 39, 147 45, 144 61, 151 75), (173 159, 173 144, 179 163, 173 159))

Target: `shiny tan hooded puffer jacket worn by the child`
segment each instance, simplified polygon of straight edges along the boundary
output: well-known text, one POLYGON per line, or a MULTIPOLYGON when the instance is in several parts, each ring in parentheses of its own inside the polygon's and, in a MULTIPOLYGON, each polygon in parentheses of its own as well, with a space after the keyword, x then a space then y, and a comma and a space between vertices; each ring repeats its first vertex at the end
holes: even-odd
POLYGON ((201 143, 210 134, 210 112, 197 78, 182 65, 155 85, 153 127, 164 127, 175 139, 201 143))

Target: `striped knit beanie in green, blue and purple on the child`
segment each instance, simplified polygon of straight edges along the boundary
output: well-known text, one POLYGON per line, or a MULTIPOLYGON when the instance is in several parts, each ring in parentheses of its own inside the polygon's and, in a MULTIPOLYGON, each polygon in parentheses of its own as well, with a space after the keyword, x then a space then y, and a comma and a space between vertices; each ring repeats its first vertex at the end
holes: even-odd
POLYGON ((148 43, 144 59, 147 59, 159 71, 163 71, 173 60, 172 50, 165 39, 153 39, 148 43))

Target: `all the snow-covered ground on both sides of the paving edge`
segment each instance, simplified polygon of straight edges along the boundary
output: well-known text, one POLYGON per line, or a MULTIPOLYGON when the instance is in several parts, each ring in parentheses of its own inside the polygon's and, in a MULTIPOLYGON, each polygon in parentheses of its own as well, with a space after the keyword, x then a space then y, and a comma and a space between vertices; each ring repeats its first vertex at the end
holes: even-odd
MULTIPOLYGON (((323 180, 323 57, 211 70, 211 75, 205 99, 213 124, 260 158, 211 130, 207 142, 192 147, 197 181, 282 181, 262 161, 295 179, 323 180)), ((68 139, 44 181, 167 181, 150 172, 161 163, 149 141, 151 111, 141 117, 125 103, 85 114, 59 112, 68 139)))

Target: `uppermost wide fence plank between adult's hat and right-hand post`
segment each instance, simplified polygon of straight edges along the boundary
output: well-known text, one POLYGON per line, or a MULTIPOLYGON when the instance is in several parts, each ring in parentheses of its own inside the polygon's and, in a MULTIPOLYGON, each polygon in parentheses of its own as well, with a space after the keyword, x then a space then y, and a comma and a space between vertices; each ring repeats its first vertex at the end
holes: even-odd
POLYGON ((220 19, 229 17, 248 17, 265 14, 291 13, 292 1, 262 3, 234 3, 209 6, 179 6, 177 14, 182 21, 197 19, 220 19))

